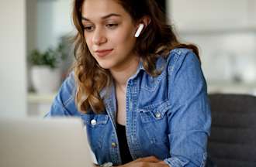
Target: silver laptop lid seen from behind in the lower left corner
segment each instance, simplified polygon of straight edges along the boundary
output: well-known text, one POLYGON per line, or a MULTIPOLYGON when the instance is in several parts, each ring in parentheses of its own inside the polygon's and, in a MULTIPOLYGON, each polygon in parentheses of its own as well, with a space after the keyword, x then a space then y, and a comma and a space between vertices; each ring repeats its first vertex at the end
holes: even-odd
POLYGON ((91 167, 78 118, 0 118, 1 167, 91 167))

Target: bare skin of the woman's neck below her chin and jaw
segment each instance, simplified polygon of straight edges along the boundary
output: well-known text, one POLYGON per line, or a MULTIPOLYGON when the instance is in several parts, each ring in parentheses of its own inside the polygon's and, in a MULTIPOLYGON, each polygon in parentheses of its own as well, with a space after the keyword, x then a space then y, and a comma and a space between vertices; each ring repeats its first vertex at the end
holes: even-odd
POLYGON ((115 80, 116 87, 126 90, 126 82, 134 73, 136 73, 139 63, 140 58, 136 57, 135 59, 126 62, 122 68, 110 70, 112 77, 115 80))

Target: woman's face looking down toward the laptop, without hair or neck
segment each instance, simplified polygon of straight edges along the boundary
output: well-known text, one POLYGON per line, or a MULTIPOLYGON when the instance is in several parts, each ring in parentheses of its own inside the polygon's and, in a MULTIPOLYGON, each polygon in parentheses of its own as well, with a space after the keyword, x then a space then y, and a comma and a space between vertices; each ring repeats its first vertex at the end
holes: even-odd
POLYGON ((122 70, 137 61, 133 53, 137 26, 115 0, 85 0, 81 8, 85 41, 104 69, 122 70))

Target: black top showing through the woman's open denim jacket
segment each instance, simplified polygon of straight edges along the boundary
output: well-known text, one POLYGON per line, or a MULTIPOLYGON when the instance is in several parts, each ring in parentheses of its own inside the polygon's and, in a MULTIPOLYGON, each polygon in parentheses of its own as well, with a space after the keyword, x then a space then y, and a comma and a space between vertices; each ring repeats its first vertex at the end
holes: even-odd
POLYGON ((130 155, 130 150, 128 148, 127 139, 126 139, 126 127, 122 124, 116 124, 116 133, 119 142, 120 155, 122 163, 132 162, 133 158, 130 155))

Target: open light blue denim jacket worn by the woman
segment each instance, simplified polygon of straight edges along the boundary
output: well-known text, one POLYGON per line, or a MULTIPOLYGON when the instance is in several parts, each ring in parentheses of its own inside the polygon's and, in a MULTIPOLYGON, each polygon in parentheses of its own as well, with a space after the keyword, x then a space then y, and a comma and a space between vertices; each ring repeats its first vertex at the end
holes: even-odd
MULTIPOLYGON (((154 155, 171 167, 205 166, 211 125, 206 81, 189 49, 173 49, 157 60, 161 74, 150 77, 142 63, 126 85, 126 137, 133 159, 154 155)), ((102 90, 106 111, 81 114, 74 103, 74 73, 64 81, 50 116, 78 116, 99 164, 122 164, 116 135, 114 86, 102 90)))

